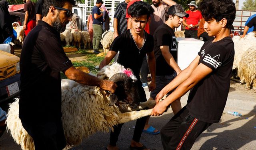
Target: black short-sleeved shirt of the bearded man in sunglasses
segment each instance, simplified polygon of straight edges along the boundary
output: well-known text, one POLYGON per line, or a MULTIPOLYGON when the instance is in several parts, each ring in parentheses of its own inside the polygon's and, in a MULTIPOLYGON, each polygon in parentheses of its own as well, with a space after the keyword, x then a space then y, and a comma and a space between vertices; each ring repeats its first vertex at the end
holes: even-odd
POLYGON ((61 117, 60 71, 71 66, 60 44, 60 33, 38 20, 38 25, 26 36, 20 56, 21 120, 61 117))

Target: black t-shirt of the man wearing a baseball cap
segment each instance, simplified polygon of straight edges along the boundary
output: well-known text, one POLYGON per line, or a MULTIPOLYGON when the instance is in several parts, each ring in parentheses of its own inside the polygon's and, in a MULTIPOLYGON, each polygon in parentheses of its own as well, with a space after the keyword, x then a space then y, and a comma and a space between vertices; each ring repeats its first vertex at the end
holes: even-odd
POLYGON ((169 46, 170 53, 177 61, 176 37, 174 31, 167 24, 162 24, 154 32, 154 54, 156 59, 156 75, 171 75, 174 70, 164 59, 160 46, 169 46))

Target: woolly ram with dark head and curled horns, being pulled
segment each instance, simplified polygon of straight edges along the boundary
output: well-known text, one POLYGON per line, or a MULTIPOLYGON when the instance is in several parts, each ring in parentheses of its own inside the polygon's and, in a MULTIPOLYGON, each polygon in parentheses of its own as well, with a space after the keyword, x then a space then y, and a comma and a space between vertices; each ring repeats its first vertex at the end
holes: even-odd
MULTIPOLYGON (((68 146, 80 144, 83 138, 97 131, 109 132, 109 129, 115 124, 148 116, 152 111, 129 112, 136 110, 138 101, 132 100, 139 98, 136 92, 135 94, 132 93, 132 91, 137 90, 136 87, 134 90, 122 91, 122 89, 134 88, 128 86, 136 84, 136 78, 131 70, 126 70, 124 66, 114 63, 102 68, 98 77, 109 78, 118 84, 119 89, 116 90, 113 98, 113 94, 109 94, 98 87, 82 85, 72 80, 62 80, 62 124, 68 146), (123 94, 127 96, 123 97, 123 94), (118 104, 121 98, 126 99, 128 104, 118 104), (132 107, 129 107, 129 105, 132 107)), ((141 104, 143 107, 150 108, 154 105, 155 101, 147 101, 141 104)), ((142 108, 137 107, 137 109, 142 108)), ((34 150, 33 140, 22 127, 18 118, 18 111, 18 99, 16 99, 9 108, 6 120, 7 128, 23 150, 34 150)))

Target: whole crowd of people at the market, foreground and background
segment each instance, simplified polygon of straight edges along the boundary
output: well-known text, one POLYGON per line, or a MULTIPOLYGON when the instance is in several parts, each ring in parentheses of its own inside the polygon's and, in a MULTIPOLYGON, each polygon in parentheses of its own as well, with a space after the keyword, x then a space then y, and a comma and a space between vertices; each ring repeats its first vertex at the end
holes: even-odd
MULTIPOLYGON (((3 1, 0 8, 6 12, 2 9, 6 7, 3 1)), ((230 29, 236 16, 235 4, 232 0, 202 0, 197 6, 191 1, 185 12, 182 5, 173 0, 152 0, 152 3, 125 0, 117 5, 114 42, 99 68, 108 65, 119 53, 116 61, 132 69, 138 78, 140 102, 147 101, 143 88, 146 86, 150 91, 149 100, 156 100, 151 115, 160 116, 170 106, 174 112, 160 131, 149 125, 150 116, 138 119, 131 150, 148 150, 140 142, 142 132, 160 133, 164 150, 187 150, 204 130, 219 122, 226 104, 234 60, 230 29), (173 51, 177 46, 174 31, 182 24, 186 26, 185 37, 202 37, 205 41, 198 56, 184 70, 176 63, 177 53, 173 51), (145 85, 148 72, 151 82, 145 85), (188 103, 182 108, 180 97, 189 90, 188 103)), ((33 138, 36 150, 61 150, 66 146, 60 111, 60 72, 80 84, 98 86, 112 93, 117 86, 76 69, 64 53, 60 32, 72 20, 75 4, 74 0, 39 0, 37 4, 26 0, 24 6, 26 38, 20 56, 19 118, 33 138)), ((0 16, 2 22, 2 16, 6 16, 2 13, 0 16)), ((247 28, 254 26, 255 20, 252 18, 247 28)), ((110 30, 108 10, 102 0, 96 0, 87 21, 94 53, 99 53, 102 32, 110 30)), ((8 31, 7 28, 9 24, 2 27, 1 23, 1 31, 8 31)), ((6 32, 0 38, 6 36, 12 33, 6 32)), ((119 149, 116 143, 122 125, 113 127, 106 150, 119 149)))

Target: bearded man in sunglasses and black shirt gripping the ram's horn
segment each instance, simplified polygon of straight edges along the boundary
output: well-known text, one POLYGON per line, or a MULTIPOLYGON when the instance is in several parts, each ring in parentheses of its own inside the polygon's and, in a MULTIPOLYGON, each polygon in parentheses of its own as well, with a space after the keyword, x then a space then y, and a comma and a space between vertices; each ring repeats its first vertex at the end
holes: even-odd
POLYGON ((26 36, 20 57, 19 118, 36 150, 62 150, 60 71, 80 84, 114 92, 116 84, 77 70, 60 44, 60 32, 72 18, 74 0, 45 0, 43 18, 26 36))

